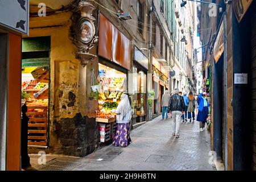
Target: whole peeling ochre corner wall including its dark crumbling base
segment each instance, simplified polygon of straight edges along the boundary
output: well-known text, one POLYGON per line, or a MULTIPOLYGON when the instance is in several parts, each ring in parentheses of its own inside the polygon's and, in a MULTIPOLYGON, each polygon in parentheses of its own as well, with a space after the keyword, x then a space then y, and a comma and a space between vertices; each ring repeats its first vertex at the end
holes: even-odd
MULTIPOLYGON (((51 36, 50 137, 47 152, 85 156, 97 145, 97 102, 88 101, 90 70, 97 60, 82 67, 69 39, 71 13, 30 19, 30 37, 51 36), (63 25, 63 26, 61 26, 63 25), (88 71, 89 70, 89 71, 88 71), (86 108, 92 110, 89 113, 86 108)), ((96 49, 94 50, 96 52, 96 49)))

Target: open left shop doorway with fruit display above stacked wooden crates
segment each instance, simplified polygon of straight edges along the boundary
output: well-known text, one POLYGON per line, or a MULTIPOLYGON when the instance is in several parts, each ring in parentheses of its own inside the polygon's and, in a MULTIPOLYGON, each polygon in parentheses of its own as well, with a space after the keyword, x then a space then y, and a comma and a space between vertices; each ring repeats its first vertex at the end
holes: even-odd
POLYGON ((22 40, 22 105, 27 106, 28 146, 49 146, 49 51, 51 38, 22 40))

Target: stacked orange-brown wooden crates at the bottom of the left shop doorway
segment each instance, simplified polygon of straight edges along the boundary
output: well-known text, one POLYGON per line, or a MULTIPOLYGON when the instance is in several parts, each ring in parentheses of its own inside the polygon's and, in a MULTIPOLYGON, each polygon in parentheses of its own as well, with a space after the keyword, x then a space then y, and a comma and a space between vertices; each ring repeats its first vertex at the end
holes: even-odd
POLYGON ((27 106, 28 110, 42 109, 43 111, 28 111, 28 145, 47 146, 48 117, 47 106, 27 106))

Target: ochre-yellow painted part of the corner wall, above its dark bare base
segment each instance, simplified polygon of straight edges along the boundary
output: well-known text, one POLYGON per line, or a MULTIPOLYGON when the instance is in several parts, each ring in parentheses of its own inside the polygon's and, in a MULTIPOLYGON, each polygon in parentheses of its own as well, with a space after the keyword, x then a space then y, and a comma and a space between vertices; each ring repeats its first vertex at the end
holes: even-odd
POLYGON ((78 113, 78 98, 76 98, 74 106, 68 106, 69 92, 74 93, 77 97, 80 67, 79 60, 76 60, 73 55, 74 52, 77 52, 77 48, 69 39, 70 18, 71 13, 30 18, 29 37, 51 36, 51 95, 49 100, 51 121, 74 118, 78 113), (64 26, 48 27, 60 25, 64 26))

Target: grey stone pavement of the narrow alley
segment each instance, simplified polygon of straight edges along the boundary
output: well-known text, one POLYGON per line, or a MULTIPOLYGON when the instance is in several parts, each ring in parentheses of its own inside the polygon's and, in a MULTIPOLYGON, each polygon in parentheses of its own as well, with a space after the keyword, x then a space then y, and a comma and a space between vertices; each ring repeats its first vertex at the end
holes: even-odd
MULTIPOLYGON (((47 156, 46 165, 38 170, 75 171, 164 171, 216 170, 209 164, 209 131, 199 131, 199 122, 182 122, 180 138, 172 136, 171 119, 162 117, 131 131, 132 143, 125 148, 106 146, 84 158, 47 156), (100 160, 98 160, 100 159, 100 160)), ((30 156, 33 160, 33 156, 30 156)), ((35 159, 34 159, 35 160, 35 159)))

